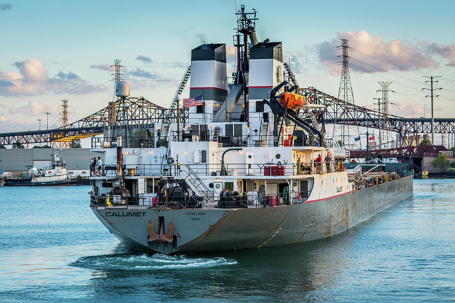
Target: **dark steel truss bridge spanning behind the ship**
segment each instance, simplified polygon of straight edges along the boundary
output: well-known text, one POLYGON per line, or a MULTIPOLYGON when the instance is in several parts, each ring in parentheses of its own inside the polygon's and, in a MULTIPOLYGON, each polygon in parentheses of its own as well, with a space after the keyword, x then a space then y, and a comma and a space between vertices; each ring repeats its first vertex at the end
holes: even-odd
MULTIPOLYGON (((370 110, 345 102, 314 87, 303 88, 302 90, 307 95, 311 95, 314 103, 325 106, 324 109, 313 110, 317 122, 323 125, 323 132, 325 132, 325 124, 358 125, 379 129, 379 115, 377 110, 370 110)), ((165 109, 143 97, 120 97, 116 101, 115 125, 162 123, 164 117, 170 119, 171 121, 169 122, 176 122, 177 115, 175 113, 176 109, 165 109), (170 111, 172 113, 169 113, 170 111)), ((183 115, 186 120, 188 111, 185 111, 183 115)), ((400 132, 402 134, 431 133, 431 118, 403 118, 390 114, 387 117, 388 119, 384 123, 381 121, 381 128, 384 130, 400 132)), ((300 118, 306 119, 309 124, 312 123, 305 111, 300 111, 300 118)), ((52 142, 74 135, 100 133, 107 125, 108 107, 105 107, 88 117, 57 129, 0 134, 0 144, 52 142)), ((434 129, 435 133, 455 133, 455 119, 436 118, 434 119, 434 129)))

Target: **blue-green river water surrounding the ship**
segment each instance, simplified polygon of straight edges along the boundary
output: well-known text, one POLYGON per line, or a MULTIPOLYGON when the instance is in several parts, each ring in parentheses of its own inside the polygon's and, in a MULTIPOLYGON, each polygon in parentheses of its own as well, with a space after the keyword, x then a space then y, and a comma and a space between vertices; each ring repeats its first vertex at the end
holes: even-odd
POLYGON ((348 231, 203 255, 128 249, 88 207, 90 188, 0 188, 0 301, 453 302, 455 180, 348 231))

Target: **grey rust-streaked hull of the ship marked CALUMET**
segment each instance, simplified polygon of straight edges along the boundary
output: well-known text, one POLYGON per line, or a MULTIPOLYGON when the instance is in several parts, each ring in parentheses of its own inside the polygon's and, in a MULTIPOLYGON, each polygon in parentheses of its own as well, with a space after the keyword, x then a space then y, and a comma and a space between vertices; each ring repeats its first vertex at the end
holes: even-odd
POLYGON ((157 251, 202 252, 294 244, 329 237, 412 195, 413 176, 305 203, 247 209, 162 210, 96 208, 100 221, 129 247, 157 251), (159 217, 175 225, 174 240, 148 241, 147 224, 159 217))

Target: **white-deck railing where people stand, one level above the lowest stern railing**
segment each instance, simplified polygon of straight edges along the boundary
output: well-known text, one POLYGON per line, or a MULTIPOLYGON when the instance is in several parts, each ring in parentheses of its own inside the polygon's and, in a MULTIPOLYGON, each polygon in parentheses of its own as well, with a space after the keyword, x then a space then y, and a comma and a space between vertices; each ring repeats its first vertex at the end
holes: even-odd
MULTIPOLYGON (((308 174, 325 174, 344 171, 343 162, 297 162, 297 163, 225 163, 227 176, 292 176, 308 174)), ((185 177, 191 174, 198 176, 220 176, 221 164, 195 163, 185 164, 174 162, 165 176, 185 177)), ((116 165, 90 167, 90 177, 117 177, 116 165)), ((124 164, 124 177, 162 176, 161 164, 124 164)))

